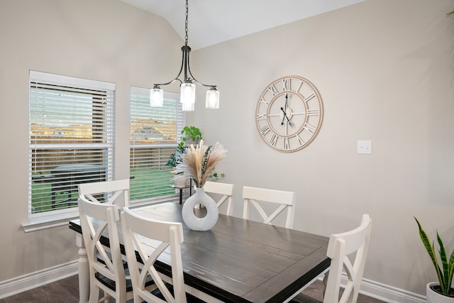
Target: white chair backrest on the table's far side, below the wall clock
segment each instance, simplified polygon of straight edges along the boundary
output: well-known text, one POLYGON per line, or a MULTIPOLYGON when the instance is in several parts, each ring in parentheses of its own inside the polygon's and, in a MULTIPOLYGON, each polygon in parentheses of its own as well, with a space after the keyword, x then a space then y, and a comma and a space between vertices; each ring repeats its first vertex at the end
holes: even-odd
POLYGON ((295 204, 294 192, 245 186, 243 187, 243 199, 243 219, 249 219, 249 204, 255 206, 255 209, 257 209, 260 216, 262 216, 263 223, 265 224, 272 224, 272 221, 277 217, 277 215, 287 209, 285 227, 292 228, 295 204), (272 212, 272 214, 267 215, 259 202, 270 202, 273 204, 279 204, 279 206, 272 212))

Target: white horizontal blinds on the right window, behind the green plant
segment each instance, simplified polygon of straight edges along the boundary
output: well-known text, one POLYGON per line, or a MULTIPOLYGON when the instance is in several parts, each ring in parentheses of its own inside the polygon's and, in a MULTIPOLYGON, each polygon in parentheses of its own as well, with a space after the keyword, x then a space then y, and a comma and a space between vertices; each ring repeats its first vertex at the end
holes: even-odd
POLYGON ((131 87, 131 202, 175 195, 166 166, 180 140, 184 114, 179 95, 165 93, 164 106, 150 107, 150 89, 131 87))

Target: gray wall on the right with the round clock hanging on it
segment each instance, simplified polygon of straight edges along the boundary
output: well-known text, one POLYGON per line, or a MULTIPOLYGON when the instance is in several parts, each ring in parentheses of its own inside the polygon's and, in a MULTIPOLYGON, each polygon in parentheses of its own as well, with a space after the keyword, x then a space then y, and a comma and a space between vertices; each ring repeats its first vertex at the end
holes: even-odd
MULTIPOLYGON (((207 142, 228 149, 226 182, 297 192, 294 228, 329 235, 373 220, 365 278, 425 294, 436 280, 413 219, 454 249, 453 1, 367 0, 196 52, 221 109, 196 104, 207 142), (325 116, 304 150, 267 147, 262 90, 284 75, 319 89, 325 116), (371 140, 372 155, 357 141, 371 140)), ((208 80, 206 80, 208 81, 208 80)))

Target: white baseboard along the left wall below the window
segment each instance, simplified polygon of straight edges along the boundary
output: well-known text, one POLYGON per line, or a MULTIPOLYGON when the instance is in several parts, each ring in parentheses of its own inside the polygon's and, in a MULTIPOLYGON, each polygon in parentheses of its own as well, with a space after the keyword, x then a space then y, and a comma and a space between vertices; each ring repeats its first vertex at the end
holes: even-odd
POLYGON ((79 267, 77 260, 75 260, 52 268, 31 272, 21 277, 2 281, 0 282, 0 299, 64 279, 65 277, 77 275, 78 272, 79 267))

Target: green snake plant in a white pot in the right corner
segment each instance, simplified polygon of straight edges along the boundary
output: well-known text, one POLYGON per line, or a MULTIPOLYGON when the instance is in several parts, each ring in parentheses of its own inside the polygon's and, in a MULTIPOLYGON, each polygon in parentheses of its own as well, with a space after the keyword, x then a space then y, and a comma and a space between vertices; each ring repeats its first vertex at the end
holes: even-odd
POLYGON ((438 235, 437 241, 439 253, 439 260, 441 260, 441 267, 438 263, 434 243, 430 241, 426 231, 423 230, 421 224, 416 217, 414 218, 419 227, 419 236, 427 250, 429 257, 432 260, 433 266, 437 272, 438 283, 429 282, 426 286, 426 296, 428 303, 453 303, 454 302, 454 288, 453 288, 453 274, 454 274, 454 250, 450 255, 446 254, 443 241, 438 235))

